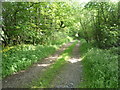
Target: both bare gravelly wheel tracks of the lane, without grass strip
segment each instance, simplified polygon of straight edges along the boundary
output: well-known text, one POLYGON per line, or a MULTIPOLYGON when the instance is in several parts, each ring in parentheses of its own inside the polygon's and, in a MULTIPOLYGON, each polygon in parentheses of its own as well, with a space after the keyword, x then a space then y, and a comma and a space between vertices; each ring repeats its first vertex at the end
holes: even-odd
MULTIPOLYGON (((22 70, 16 74, 8 76, 2 80, 2 88, 25 88, 27 84, 36 81, 42 76, 44 71, 52 65, 62 52, 73 42, 64 44, 53 55, 33 64, 27 70, 22 70)), ((62 67, 59 74, 51 83, 52 88, 75 88, 82 82, 82 64, 80 58, 80 42, 76 44, 72 51, 71 58, 67 60, 67 64, 62 67)))

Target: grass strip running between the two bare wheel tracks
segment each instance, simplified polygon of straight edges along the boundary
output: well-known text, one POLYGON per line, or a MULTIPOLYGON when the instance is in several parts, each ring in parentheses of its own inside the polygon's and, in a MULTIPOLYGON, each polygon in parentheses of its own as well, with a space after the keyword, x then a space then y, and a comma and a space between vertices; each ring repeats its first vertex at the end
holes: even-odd
POLYGON ((49 88, 51 81, 59 73, 60 69, 67 63, 66 60, 71 56, 71 52, 77 42, 69 46, 56 60, 56 62, 51 65, 44 74, 40 77, 38 81, 32 83, 31 88, 49 88))

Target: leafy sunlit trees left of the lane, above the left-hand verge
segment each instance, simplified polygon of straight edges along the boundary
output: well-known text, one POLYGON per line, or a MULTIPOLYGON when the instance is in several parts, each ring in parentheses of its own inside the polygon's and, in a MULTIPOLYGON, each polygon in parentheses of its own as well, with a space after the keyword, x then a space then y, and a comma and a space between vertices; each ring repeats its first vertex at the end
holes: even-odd
POLYGON ((69 27, 71 16, 67 3, 3 2, 2 10, 4 46, 61 44, 67 40, 65 27, 69 27))

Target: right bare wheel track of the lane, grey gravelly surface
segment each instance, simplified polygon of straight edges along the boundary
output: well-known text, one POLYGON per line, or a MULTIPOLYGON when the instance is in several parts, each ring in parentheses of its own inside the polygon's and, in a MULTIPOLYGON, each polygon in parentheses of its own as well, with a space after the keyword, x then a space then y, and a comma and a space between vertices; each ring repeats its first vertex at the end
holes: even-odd
POLYGON ((82 82, 82 64, 80 58, 80 43, 76 44, 68 64, 53 80, 53 88, 75 88, 82 82))

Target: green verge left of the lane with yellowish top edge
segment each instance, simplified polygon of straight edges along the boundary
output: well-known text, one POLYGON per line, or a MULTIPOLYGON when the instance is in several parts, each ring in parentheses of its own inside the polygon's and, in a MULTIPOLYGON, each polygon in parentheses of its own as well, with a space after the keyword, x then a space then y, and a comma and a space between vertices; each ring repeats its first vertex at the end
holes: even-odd
POLYGON ((7 47, 2 52, 2 77, 25 70, 33 63, 55 52, 58 46, 18 45, 7 47))

